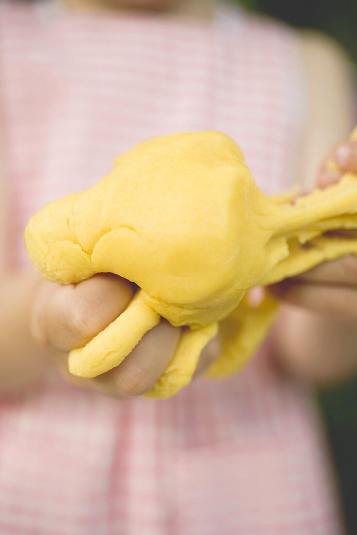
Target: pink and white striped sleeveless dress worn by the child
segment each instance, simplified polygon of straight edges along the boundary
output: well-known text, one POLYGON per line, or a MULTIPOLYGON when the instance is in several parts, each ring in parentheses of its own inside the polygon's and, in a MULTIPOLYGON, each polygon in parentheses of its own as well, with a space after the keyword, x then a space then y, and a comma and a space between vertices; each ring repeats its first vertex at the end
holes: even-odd
MULTIPOLYGON (((235 9, 209 27, 0 4, 13 262, 43 203, 87 188, 147 137, 219 129, 266 192, 295 180, 297 37, 235 9)), ((187 178, 189 180, 189 177, 187 178)), ((0 532, 339 535, 313 400, 263 346, 237 377, 118 402, 51 377, 0 409, 0 532)))

